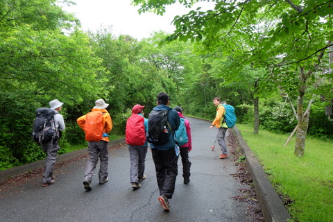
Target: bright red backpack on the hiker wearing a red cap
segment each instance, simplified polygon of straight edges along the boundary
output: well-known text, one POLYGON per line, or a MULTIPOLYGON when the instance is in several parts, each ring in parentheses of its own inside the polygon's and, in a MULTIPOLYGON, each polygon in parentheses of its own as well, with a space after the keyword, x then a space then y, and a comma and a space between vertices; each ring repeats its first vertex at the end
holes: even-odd
POLYGON ((144 129, 144 117, 133 114, 126 122, 126 144, 143 146, 146 142, 146 130, 144 129))

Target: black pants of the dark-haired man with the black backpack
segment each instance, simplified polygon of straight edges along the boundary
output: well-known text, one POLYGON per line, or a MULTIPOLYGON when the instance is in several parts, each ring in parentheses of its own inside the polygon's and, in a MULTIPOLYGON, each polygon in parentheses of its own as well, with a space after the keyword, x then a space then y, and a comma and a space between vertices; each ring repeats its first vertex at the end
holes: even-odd
POLYGON ((175 191, 176 177, 178 174, 177 156, 174 148, 166 151, 157 148, 151 149, 155 163, 156 178, 160 195, 171 199, 175 191))

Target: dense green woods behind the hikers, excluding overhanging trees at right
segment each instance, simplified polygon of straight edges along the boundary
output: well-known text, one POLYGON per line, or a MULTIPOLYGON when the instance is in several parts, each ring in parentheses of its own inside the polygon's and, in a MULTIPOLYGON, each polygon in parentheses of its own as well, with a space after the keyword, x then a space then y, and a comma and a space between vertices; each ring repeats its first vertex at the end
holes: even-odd
MULTIPOLYGON (((327 33, 332 35, 330 27, 327 33)), ((216 37, 222 34, 216 32, 216 37)), ((45 156, 31 140, 31 127, 35 110, 48 107, 52 99, 65 103, 62 114, 67 128, 60 140, 62 147, 85 142, 76 119, 89 112, 96 99, 110 103, 112 133, 123 135, 133 105, 145 105, 147 117, 158 92, 167 92, 171 107, 180 105, 185 114, 213 119, 212 98, 219 96, 236 108, 239 123, 253 124, 257 117, 263 128, 277 133, 290 133, 296 127, 291 104, 298 104, 297 70, 302 65, 283 66, 283 70, 275 67, 280 73, 252 60, 258 54, 249 45, 255 36, 249 39, 248 32, 234 34, 229 42, 220 41, 209 53, 202 51, 208 46, 205 41, 212 43, 213 39, 203 38, 203 44, 171 41, 160 45, 168 36, 153 33, 138 41, 127 35, 114 36, 110 27, 83 33, 79 21, 62 11, 56 1, 0 3, 0 170, 45 156), (242 54, 250 56, 250 62, 241 62, 242 54), (290 101, 282 93, 289 93, 290 101)), ((319 40, 317 35, 314 38, 319 40)), ((320 40, 324 39, 322 35, 320 40)), ((281 44, 285 42, 275 41, 275 47, 267 47, 278 52, 281 44)), ((263 61, 282 62, 263 52, 263 61)), ((329 70, 328 62, 321 62, 319 68, 329 70)), ((330 92, 332 81, 318 69, 305 84, 305 103, 313 98, 308 95, 318 95, 311 103, 307 132, 332 139, 332 122, 325 116, 325 98, 330 97, 319 90, 330 92)))

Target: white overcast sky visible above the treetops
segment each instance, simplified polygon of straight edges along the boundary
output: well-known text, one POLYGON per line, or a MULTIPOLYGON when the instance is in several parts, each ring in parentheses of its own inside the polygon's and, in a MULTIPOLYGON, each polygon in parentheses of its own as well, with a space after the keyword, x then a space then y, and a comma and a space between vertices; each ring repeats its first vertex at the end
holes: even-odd
POLYGON ((67 12, 72 12, 80 19, 83 30, 96 32, 101 25, 112 26, 114 35, 130 35, 142 40, 150 37, 154 31, 172 33, 175 29, 171 22, 176 15, 183 15, 189 10, 196 10, 198 6, 207 9, 214 8, 212 3, 202 2, 191 9, 179 4, 167 6, 163 16, 151 12, 139 15, 139 7, 131 6, 131 0, 72 0, 75 6, 62 6, 67 12), (205 7, 204 7, 205 6, 205 7))

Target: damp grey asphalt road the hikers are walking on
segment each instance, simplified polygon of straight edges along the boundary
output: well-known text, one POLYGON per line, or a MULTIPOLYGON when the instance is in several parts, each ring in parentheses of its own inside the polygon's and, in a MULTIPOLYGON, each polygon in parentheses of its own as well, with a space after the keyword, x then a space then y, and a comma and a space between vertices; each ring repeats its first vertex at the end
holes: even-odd
MULTIPOLYGON (((148 151, 146 180, 142 187, 130 186, 130 158, 126 146, 110 151, 109 182, 99 185, 92 180, 92 191, 83 188, 87 159, 70 162, 55 170, 56 183, 42 187, 42 178, 28 178, 12 189, 0 190, 0 221, 246 221, 247 203, 232 197, 243 189, 230 174, 236 173, 233 161, 219 160, 216 129, 210 122, 187 118, 191 123, 193 149, 189 153, 191 182, 182 180, 178 160, 178 177, 171 210, 164 212, 157 198, 159 191, 155 167, 148 151)), ((228 135, 228 134, 227 134, 228 135)), ((99 165, 98 165, 99 166, 99 165)), ((96 167, 95 173, 98 173, 96 167)))

